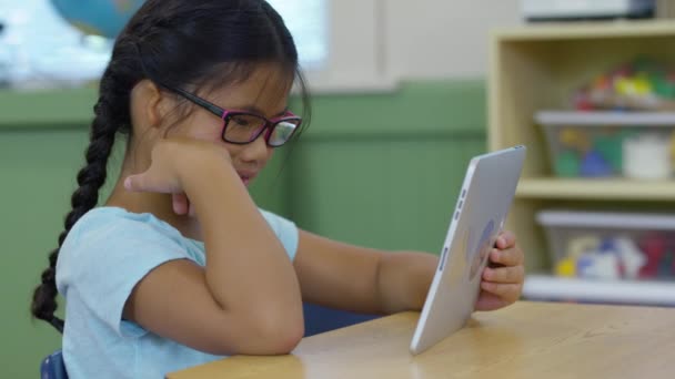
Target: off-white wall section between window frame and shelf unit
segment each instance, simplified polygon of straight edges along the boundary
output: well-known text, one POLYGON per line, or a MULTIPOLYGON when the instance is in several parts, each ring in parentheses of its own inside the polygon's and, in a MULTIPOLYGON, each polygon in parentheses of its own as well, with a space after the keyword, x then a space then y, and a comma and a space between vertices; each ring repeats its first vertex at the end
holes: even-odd
POLYGON ((522 23, 520 0, 380 1, 382 64, 400 79, 484 76, 490 30, 522 23))

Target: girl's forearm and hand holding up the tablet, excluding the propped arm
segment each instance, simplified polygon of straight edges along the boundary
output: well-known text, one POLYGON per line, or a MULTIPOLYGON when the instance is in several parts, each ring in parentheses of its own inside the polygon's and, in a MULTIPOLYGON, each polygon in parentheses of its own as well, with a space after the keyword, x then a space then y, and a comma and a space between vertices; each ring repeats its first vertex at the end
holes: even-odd
MULTIPOLYGON (((492 267, 483 273, 476 310, 497 309, 518 298, 522 255, 511 233, 497 239, 491 253, 492 267)), ((426 253, 385 253, 301 231, 293 265, 305 301, 366 314, 393 314, 422 308, 437 262, 436 256, 426 253)))

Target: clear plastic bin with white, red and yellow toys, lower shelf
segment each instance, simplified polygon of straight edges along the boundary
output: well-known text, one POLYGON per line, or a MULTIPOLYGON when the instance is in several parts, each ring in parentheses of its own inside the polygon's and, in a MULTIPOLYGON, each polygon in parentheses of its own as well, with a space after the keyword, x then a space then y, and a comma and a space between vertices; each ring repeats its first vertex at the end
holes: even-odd
POLYGON ((675 280, 675 215, 542 211, 556 275, 675 280))

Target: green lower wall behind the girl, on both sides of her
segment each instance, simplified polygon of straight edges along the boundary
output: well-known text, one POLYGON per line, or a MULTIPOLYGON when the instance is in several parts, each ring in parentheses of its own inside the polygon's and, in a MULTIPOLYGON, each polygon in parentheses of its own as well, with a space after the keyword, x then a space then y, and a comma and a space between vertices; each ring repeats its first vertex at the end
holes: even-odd
MULTIPOLYGON (((312 126, 279 152, 253 196, 332 238, 436 253, 464 167, 485 150, 484 92, 476 80, 318 95, 312 126)), ((69 209, 94 96, 0 92, 3 378, 37 377, 40 359, 59 348, 59 335, 32 322, 28 307, 69 209)))

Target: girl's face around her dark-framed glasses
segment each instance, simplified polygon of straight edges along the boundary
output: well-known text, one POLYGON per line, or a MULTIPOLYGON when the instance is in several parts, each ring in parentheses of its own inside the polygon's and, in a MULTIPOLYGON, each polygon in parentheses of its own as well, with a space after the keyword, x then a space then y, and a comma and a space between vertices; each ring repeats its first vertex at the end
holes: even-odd
MULTIPOLYGON (((286 113, 289 92, 288 76, 273 66, 263 65, 254 71, 246 81, 198 95, 225 111, 248 111, 272 120, 286 113)), ((222 133, 223 121, 221 119, 200 106, 193 106, 190 115, 173 127, 169 135, 189 136, 223 144, 230 153, 234 170, 248 186, 266 165, 273 148, 266 145, 264 132, 255 141, 245 145, 223 141, 222 133)))

